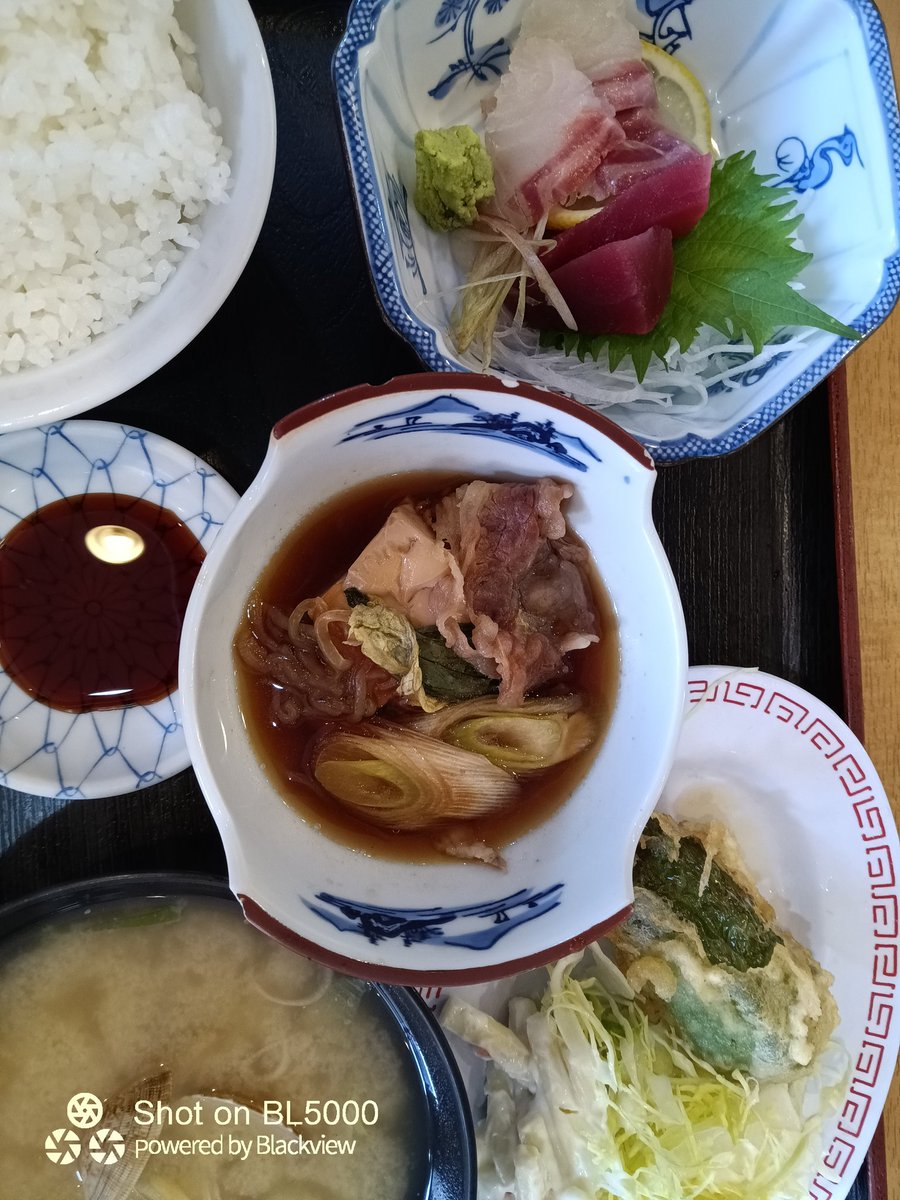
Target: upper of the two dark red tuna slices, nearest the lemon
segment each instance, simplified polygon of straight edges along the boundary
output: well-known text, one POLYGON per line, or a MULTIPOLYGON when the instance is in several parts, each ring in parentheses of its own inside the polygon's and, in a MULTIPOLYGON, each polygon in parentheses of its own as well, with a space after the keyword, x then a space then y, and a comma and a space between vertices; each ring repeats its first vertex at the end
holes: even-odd
POLYGON ((672 236, 689 233, 709 205, 710 155, 696 151, 636 179, 600 211, 572 229, 564 229, 552 250, 541 257, 551 275, 565 263, 596 250, 664 226, 672 236))

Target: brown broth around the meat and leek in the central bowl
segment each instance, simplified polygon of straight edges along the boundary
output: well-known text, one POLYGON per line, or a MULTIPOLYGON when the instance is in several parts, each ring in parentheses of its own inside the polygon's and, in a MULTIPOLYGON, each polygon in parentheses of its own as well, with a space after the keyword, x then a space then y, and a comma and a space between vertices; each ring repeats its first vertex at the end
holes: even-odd
MULTIPOLYGON (((322 594, 346 574, 350 563, 384 524, 391 509, 412 497, 442 496, 470 476, 418 472, 390 475, 352 488, 320 505, 284 540, 257 581, 256 595, 289 613, 305 596, 322 594)), ((568 690, 586 698, 598 736, 569 762, 521 779, 522 792, 512 809, 468 822, 473 836, 502 847, 545 821, 571 794, 584 775, 610 724, 619 678, 619 642, 612 604, 595 571, 590 572, 600 641, 572 654, 568 690)), ((244 632, 238 631, 238 636, 244 632)), ((301 816, 329 836, 378 858, 406 862, 446 862, 434 850, 432 834, 396 833, 360 821, 306 772, 307 748, 320 731, 314 718, 296 725, 271 716, 271 686, 234 655, 239 696, 247 732, 266 775, 301 816)))

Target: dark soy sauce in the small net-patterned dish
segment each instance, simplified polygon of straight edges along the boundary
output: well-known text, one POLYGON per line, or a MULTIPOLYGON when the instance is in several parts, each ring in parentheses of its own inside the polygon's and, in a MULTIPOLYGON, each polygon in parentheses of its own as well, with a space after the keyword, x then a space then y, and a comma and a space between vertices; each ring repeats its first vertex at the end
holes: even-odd
POLYGON ((70 713, 162 700, 203 558, 158 504, 98 492, 44 505, 0 541, 0 665, 70 713))

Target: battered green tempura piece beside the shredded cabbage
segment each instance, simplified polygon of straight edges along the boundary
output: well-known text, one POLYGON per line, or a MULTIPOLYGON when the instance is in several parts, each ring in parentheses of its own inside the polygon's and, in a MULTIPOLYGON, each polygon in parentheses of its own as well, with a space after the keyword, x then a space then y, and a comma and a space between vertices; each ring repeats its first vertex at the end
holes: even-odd
POLYGON ((634 910, 610 936, 629 983, 718 1070, 804 1074, 838 1024, 832 976, 778 928, 722 826, 656 814, 635 857, 634 910))

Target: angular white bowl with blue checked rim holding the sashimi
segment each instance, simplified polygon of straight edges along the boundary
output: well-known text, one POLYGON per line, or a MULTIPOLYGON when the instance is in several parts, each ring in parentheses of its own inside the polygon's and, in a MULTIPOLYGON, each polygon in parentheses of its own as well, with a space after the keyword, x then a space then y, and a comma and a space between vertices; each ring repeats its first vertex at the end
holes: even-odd
MULTIPOLYGON (((556 0, 563 4, 564 0, 556 0)), ((388 320, 433 370, 479 370, 449 336, 463 270, 454 239, 415 211, 418 128, 481 128, 481 102, 509 61, 526 0, 355 0, 334 74, 376 290, 388 320)), ((722 156, 790 188, 815 262, 805 295, 862 335, 900 290, 900 119, 884 29, 871 0, 636 0, 642 36, 677 55, 710 102, 722 156)), ((722 340, 724 341, 724 340, 722 340)), ((725 454, 800 400, 857 344, 809 332, 791 353, 724 354, 702 388, 664 371, 636 389, 655 400, 606 415, 658 461, 725 454)), ((727 346, 725 347, 727 350, 727 346)), ((595 404, 596 368, 540 356, 521 378, 595 404)), ((510 370, 505 367, 505 370, 510 370)), ((620 367, 631 391, 636 379, 620 367)))

